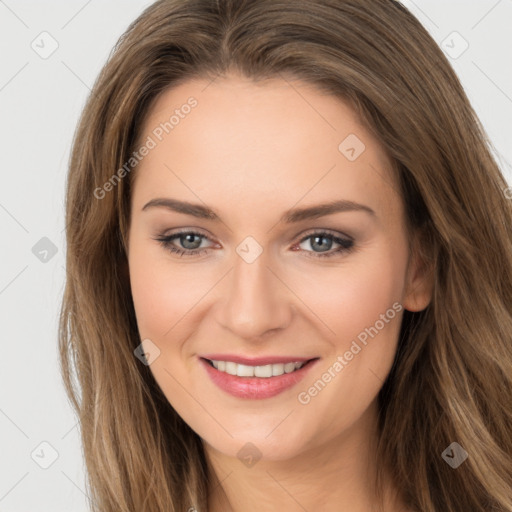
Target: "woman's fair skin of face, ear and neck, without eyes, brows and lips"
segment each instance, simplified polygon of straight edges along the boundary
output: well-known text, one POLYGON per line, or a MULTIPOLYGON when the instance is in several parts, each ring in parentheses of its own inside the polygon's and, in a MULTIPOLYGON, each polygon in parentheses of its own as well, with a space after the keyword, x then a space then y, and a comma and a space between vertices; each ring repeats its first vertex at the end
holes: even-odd
MULTIPOLYGON (((190 96, 197 106, 136 171, 128 262, 141 339, 160 350, 151 372, 202 438, 221 481, 212 486, 209 510, 378 510, 377 394, 393 363, 403 309, 420 311, 431 300, 424 265, 409 253, 391 162, 348 105, 284 79, 256 84, 229 75, 184 83, 158 98, 140 140, 190 96), (349 134, 365 145, 353 161, 338 149, 349 134), (165 206, 143 210, 156 198, 207 205, 221 220, 165 206), (340 199, 374 213, 280 222, 289 209, 340 199), (202 252, 180 257, 155 240, 178 230, 204 237, 169 245, 202 252), (303 240, 313 230, 350 237, 354 247, 335 253, 340 244, 322 242, 326 235, 303 240), (251 263, 236 250, 248 236, 263 249, 251 263), (319 244, 333 256, 317 256, 319 244), (299 401, 395 303, 400 312, 381 322, 321 392, 299 401), (319 360, 297 385, 258 400, 212 384, 198 356, 213 352, 319 360), (246 443, 261 454, 250 467, 237 456, 246 443)), ((383 510, 405 511, 385 474, 383 510)))

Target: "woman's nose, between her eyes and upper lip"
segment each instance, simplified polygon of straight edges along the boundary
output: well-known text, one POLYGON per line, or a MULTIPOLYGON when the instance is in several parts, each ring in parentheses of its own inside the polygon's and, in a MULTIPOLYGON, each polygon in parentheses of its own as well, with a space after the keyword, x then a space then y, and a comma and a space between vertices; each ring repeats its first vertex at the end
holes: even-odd
POLYGON ((257 341, 290 324, 293 293, 269 266, 265 252, 252 263, 237 255, 225 287, 218 321, 238 339, 257 341))

